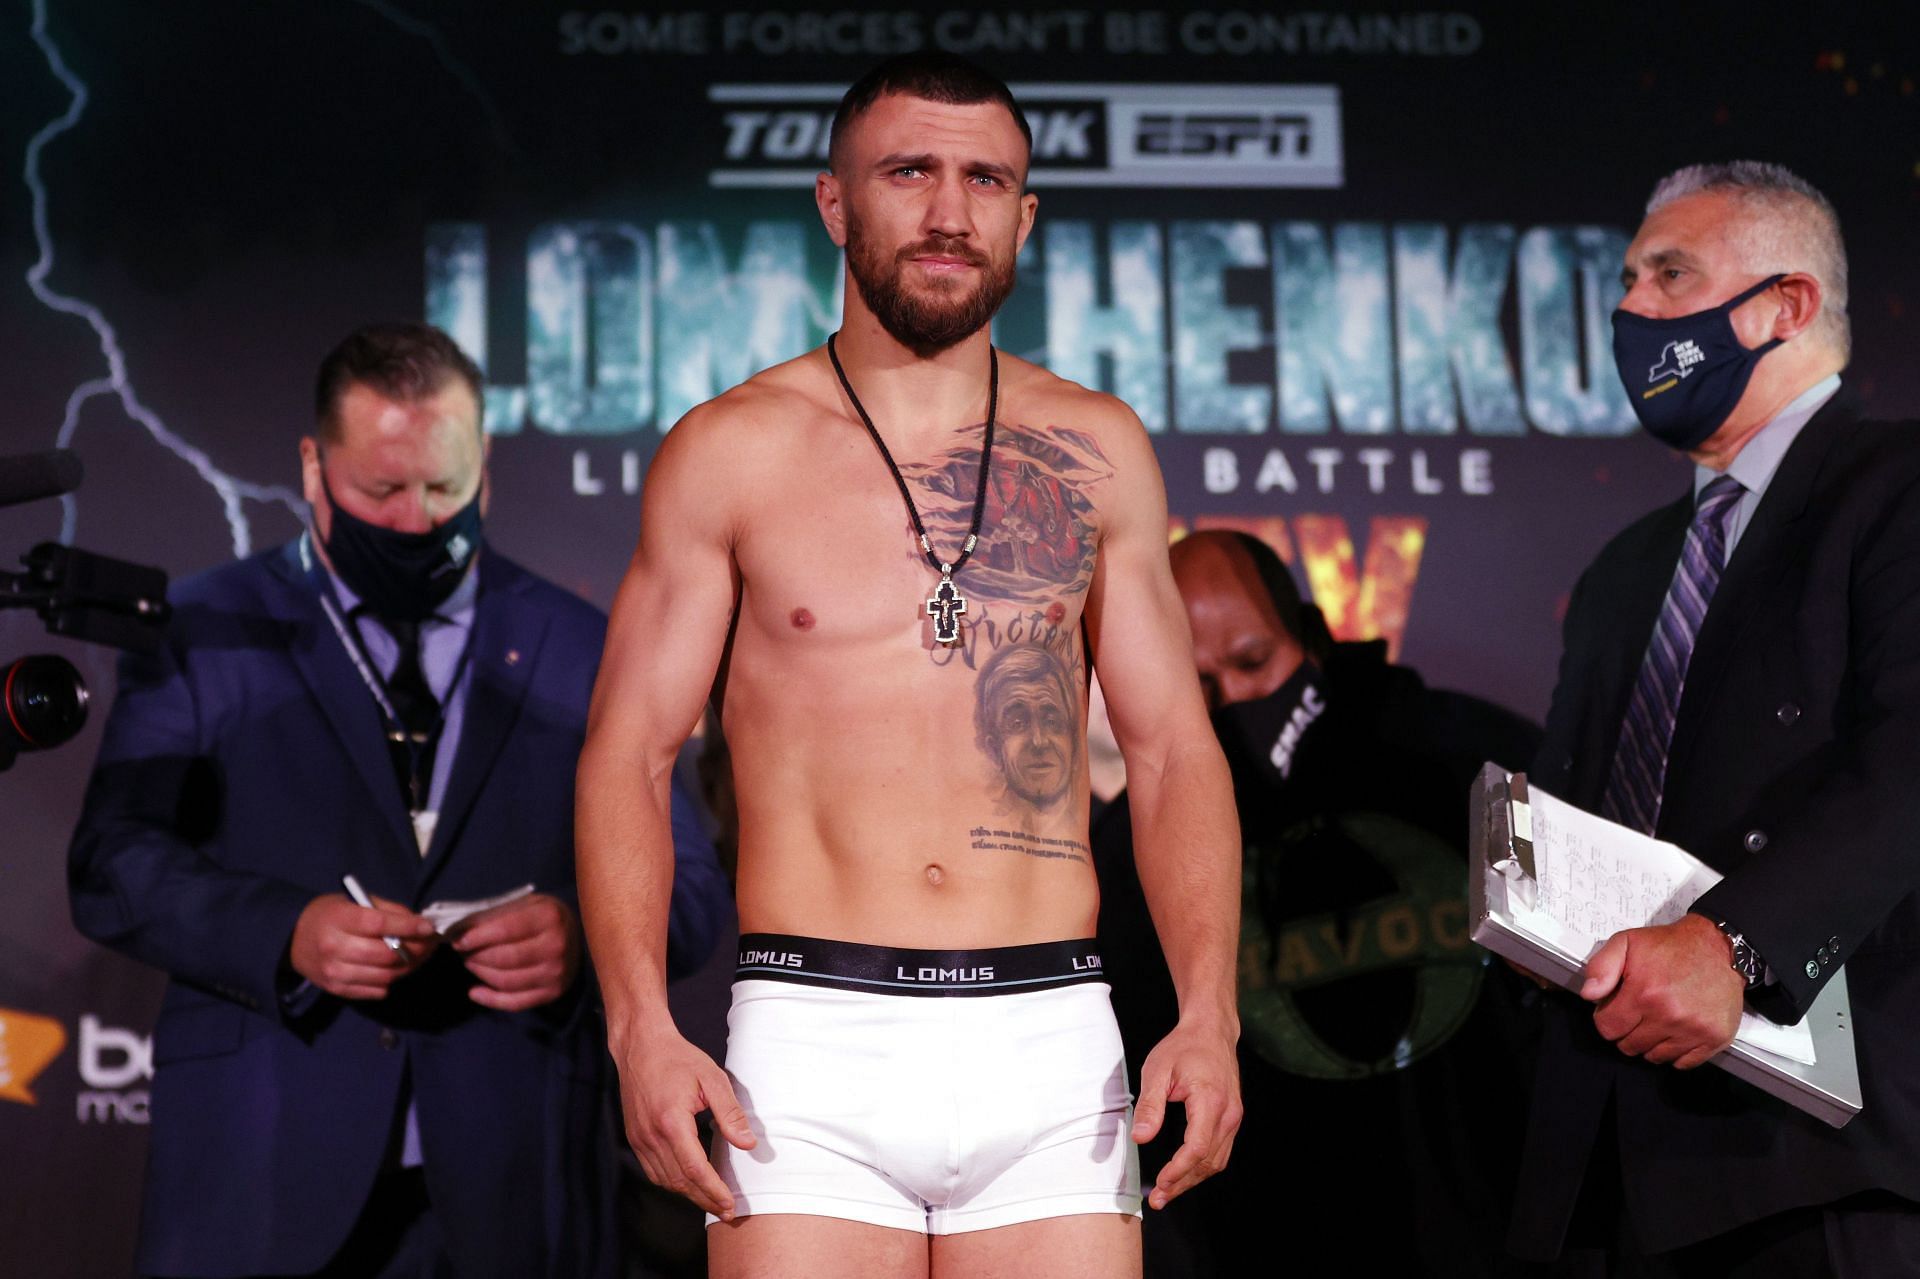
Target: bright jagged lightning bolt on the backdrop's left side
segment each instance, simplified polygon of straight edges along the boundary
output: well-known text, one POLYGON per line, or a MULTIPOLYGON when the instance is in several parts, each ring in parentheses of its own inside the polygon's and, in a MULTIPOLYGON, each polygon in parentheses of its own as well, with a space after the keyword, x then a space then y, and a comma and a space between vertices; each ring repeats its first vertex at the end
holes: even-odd
MULTIPOLYGON (((140 401, 132 380, 127 376, 127 355, 121 351, 119 336, 113 332, 113 325, 108 323, 106 315, 100 313, 100 307, 94 307, 79 298, 58 294, 46 284, 46 277, 54 273, 54 236, 52 230, 48 230, 46 221, 46 182, 40 179, 40 154, 54 138, 79 125, 81 115, 86 111, 86 84, 83 84, 79 77, 67 69, 65 60, 60 56, 60 48, 46 35, 46 0, 33 0, 33 42, 40 46, 40 52, 46 56, 46 65, 54 71, 54 77, 65 84, 69 94, 73 94, 73 102, 67 106, 63 115, 48 121, 36 134, 33 134, 33 140, 27 142, 25 181, 27 190, 33 194, 33 238, 40 250, 38 259, 27 269, 27 288, 33 290, 33 296, 38 298, 48 309, 84 319, 94 330, 94 336, 100 340, 100 355, 108 361, 108 376, 81 382, 73 388, 73 394, 67 396, 67 415, 60 422, 58 444, 60 447, 67 447, 73 440, 73 432, 79 428, 81 421, 81 407, 84 407, 86 401, 100 396, 115 396, 127 417, 140 422, 140 426, 144 426, 161 447, 190 465, 219 495, 221 509, 227 515, 227 528, 232 536, 234 557, 248 555, 253 545, 253 528, 246 515, 246 499, 276 501, 300 519, 305 519, 305 503, 288 488, 276 484, 252 484, 227 474, 213 465, 213 459, 207 457, 204 449, 194 447, 175 434, 157 413, 140 401)), ((71 545, 73 530, 79 522, 79 503, 71 494, 60 501, 60 540, 71 545)))

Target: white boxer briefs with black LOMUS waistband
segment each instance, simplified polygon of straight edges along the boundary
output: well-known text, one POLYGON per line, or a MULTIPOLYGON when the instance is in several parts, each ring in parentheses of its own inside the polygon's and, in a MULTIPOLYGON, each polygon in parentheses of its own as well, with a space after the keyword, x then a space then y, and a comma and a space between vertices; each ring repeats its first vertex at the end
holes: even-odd
POLYGON ((758 1137, 714 1139, 737 1216, 958 1235, 1140 1214, 1127 1064, 1091 941, 902 951, 749 933, 726 1068, 758 1137))

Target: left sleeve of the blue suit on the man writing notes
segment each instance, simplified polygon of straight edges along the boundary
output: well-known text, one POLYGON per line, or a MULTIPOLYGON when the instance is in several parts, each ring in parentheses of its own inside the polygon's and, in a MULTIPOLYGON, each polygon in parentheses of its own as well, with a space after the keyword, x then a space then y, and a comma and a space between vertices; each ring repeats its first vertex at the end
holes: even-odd
MULTIPOLYGON (((311 893, 228 870, 196 847, 213 795, 177 636, 125 655, 119 697, 67 855, 73 924, 108 947, 248 1008, 276 1010, 280 958, 311 893)), ((205 832, 211 833, 211 832, 205 832)))

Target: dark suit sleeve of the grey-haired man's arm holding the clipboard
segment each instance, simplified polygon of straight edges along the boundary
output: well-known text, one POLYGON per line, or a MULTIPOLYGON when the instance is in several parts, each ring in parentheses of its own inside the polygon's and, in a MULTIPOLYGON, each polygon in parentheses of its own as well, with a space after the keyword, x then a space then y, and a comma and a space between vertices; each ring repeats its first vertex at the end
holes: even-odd
POLYGON ((1855 557, 1847 711, 1826 782, 1768 832, 1764 851, 1695 903, 1766 958, 1755 997, 1797 1020, 1895 903, 1920 889, 1920 482, 1855 557))

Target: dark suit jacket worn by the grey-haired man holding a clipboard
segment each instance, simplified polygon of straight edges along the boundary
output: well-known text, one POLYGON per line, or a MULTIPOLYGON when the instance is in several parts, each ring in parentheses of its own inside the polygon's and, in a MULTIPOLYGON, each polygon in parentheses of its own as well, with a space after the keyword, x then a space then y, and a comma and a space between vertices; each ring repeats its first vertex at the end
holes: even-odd
MULTIPOLYGON (((1693 499, 1582 574, 1532 780, 1597 810, 1693 499)), ((1611 1098, 1624 1206, 1663 1252, 1864 1189, 1920 1200, 1920 424, 1845 392, 1801 430, 1734 547, 1674 720, 1661 839, 1726 880, 1697 910, 1805 1014, 1847 968, 1866 1108, 1832 1129, 1720 1070, 1624 1058, 1551 1002, 1513 1243, 1559 1250, 1611 1098)))

